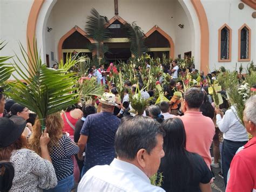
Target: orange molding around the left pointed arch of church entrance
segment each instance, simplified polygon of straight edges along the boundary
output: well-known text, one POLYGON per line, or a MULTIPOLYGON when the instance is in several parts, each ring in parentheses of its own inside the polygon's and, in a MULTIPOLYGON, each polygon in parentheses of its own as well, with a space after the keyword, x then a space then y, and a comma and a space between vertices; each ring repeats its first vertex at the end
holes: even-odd
MULTIPOLYGON (((59 39, 59 43, 58 43, 58 59, 61 60, 63 55, 62 55, 62 44, 64 42, 64 40, 66 38, 68 38, 69 36, 71 36, 75 31, 79 32, 81 35, 83 36, 87 36, 86 32, 83 31, 81 28, 79 28, 79 26, 74 26, 71 30, 69 30, 68 32, 66 32, 66 34, 64 36, 62 36, 62 38, 59 39)), ((92 38, 87 38, 91 43, 95 43, 95 41, 92 38)))

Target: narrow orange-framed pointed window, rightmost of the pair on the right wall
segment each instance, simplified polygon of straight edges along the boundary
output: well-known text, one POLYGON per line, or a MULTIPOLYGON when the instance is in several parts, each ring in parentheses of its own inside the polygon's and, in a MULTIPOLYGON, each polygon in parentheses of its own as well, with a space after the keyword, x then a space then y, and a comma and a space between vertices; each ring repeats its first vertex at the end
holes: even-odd
POLYGON ((238 30, 238 40, 238 60, 250 61, 251 29, 246 24, 238 30))

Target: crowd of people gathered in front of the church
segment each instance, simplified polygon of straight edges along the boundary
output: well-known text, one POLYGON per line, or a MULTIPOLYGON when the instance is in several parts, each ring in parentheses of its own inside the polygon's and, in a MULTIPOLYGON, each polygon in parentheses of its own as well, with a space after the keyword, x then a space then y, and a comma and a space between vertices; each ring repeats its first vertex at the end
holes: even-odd
POLYGON ((102 97, 48 115, 43 132, 37 115, 0 88, 0 191, 71 191, 78 184, 78 191, 206 192, 218 167, 226 191, 256 190, 256 95, 246 102, 242 125, 234 106, 214 105, 208 85, 185 91, 176 60, 163 70, 172 76, 164 87, 169 101, 151 103, 137 115, 130 97, 141 90, 149 99, 155 90, 126 80, 120 97, 117 85, 105 79, 118 73, 112 63, 106 71, 104 65, 90 68, 88 77, 105 85, 102 97), (155 174, 163 176, 160 187, 150 182, 155 174))

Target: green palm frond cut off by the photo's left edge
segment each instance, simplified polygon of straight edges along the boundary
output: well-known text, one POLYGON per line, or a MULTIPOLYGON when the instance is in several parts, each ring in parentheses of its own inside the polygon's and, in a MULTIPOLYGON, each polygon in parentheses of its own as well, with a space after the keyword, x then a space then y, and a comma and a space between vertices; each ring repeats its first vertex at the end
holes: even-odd
MULTIPOLYGON (((0 42, 0 51, 5 47, 7 43, 4 41, 0 42)), ((14 68, 11 64, 4 63, 5 61, 11 59, 12 57, 0 57, 0 84, 3 84, 4 81, 8 80, 11 76, 11 73, 14 71, 14 68)))

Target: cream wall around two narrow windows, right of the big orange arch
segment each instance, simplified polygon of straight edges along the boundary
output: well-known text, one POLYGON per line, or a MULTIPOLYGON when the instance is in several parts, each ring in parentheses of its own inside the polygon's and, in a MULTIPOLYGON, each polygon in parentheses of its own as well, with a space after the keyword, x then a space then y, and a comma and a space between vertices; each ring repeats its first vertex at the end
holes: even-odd
MULTIPOLYGON (((238 29, 245 23, 251 28, 251 60, 255 61, 256 50, 256 19, 252 18, 253 10, 250 6, 245 4, 244 9, 240 10, 238 4, 239 0, 202 0, 210 31, 210 69, 214 70, 220 66, 224 66, 228 70, 235 69, 235 63, 244 67, 247 66, 249 61, 238 61, 238 29), (224 24, 227 24, 232 29, 232 50, 231 62, 218 61, 218 30, 224 24)), ((238 70, 237 67, 237 70, 238 70)), ((245 72, 245 71, 243 71, 245 72)))

